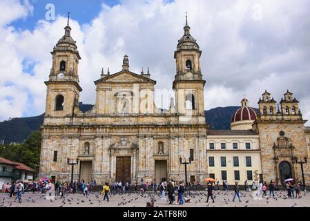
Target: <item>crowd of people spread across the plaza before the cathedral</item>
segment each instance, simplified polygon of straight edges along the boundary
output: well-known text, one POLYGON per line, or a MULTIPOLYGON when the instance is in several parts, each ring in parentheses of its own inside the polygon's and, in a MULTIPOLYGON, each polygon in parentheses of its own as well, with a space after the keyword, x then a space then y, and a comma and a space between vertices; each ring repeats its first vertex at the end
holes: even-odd
MULTIPOLYGON (((65 195, 68 193, 82 193, 86 198, 88 198, 89 191, 93 189, 93 187, 96 185, 97 180, 93 180, 93 182, 84 182, 82 180, 81 182, 73 182, 71 185, 70 182, 56 182, 55 183, 55 195, 60 195, 61 198, 65 198, 65 195)), ((18 200, 19 202, 22 202, 21 196, 26 191, 32 191, 32 193, 46 193, 48 190, 50 190, 51 187, 51 180, 48 177, 44 177, 41 180, 37 182, 30 182, 30 183, 23 183, 22 181, 12 182, 12 184, 4 183, 2 186, 3 193, 8 193, 10 195, 10 198, 14 198, 14 201, 18 200)), ((54 186, 54 184, 52 184, 54 186)), ((134 190, 142 191, 142 192, 149 192, 153 191, 155 195, 157 195, 157 191, 159 191, 159 199, 166 200, 169 204, 173 204, 175 202, 176 204, 184 204, 184 202, 191 202, 191 199, 184 197, 185 193, 185 184, 184 182, 177 180, 166 180, 166 178, 162 178, 162 180, 157 183, 156 180, 153 180, 151 184, 148 182, 144 182, 144 179, 141 179, 140 183, 140 189, 137 188, 137 182, 133 186, 133 189, 130 188, 130 184, 128 182, 122 183, 122 182, 115 182, 112 185, 113 193, 126 193, 128 191, 134 190), (176 197, 177 195, 177 197, 176 197), (168 197, 166 199, 166 196, 168 197)), ((191 186, 189 184, 188 186, 191 186)), ((289 182, 283 183, 284 188, 287 189, 287 196, 288 198, 300 198, 300 189, 302 189, 302 183, 296 182, 295 180, 291 179, 289 182)), ((229 184, 227 181, 222 182, 222 189, 223 191, 229 191, 229 184)), ((275 198, 274 191, 278 190, 279 187, 275 184, 273 180, 267 184, 267 182, 258 182, 258 184, 253 183, 251 188, 248 184, 248 181, 246 180, 244 182, 244 190, 245 191, 255 191, 258 197, 267 197, 269 191, 269 197, 275 198)), ((212 202, 215 202, 214 193, 215 191, 220 190, 220 182, 219 180, 213 180, 213 182, 207 182, 206 184, 206 193, 207 193, 207 200, 206 202, 209 202, 209 199, 212 200, 212 202)), ((235 182, 233 185, 233 202, 235 202, 235 199, 238 198, 239 202, 242 202, 241 195, 240 195, 240 187, 238 182, 235 182)), ((108 182, 106 182, 102 186, 102 195, 104 195, 104 200, 107 200, 109 202, 109 193, 110 193, 110 185, 108 182)), ((152 202, 153 203, 153 202, 152 202)), ((150 205, 152 204, 150 203, 150 205)))

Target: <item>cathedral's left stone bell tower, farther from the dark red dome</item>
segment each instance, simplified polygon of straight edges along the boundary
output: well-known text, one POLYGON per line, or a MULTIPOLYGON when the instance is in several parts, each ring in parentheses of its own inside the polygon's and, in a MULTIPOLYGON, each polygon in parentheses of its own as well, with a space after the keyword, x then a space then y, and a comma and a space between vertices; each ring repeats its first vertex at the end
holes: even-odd
POLYGON ((71 28, 68 23, 65 29, 65 35, 59 39, 53 48, 52 68, 48 81, 46 95, 46 116, 64 117, 71 116, 73 109, 79 104, 79 51, 76 41, 70 35, 71 28))

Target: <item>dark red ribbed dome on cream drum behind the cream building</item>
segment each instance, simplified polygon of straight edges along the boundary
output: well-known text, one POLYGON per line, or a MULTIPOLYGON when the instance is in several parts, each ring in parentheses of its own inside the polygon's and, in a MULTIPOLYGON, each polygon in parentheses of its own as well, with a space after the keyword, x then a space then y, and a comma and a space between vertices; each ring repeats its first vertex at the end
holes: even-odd
POLYGON ((253 108, 249 107, 248 99, 241 100, 241 107, 235 111, 231 117, 232 130, 251 130, 257 114, 253 108))

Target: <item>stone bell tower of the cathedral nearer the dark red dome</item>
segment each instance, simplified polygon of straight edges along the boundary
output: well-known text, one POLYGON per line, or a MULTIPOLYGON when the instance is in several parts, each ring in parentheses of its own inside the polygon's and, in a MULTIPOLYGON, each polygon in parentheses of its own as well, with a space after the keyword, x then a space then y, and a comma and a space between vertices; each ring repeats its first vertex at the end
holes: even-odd
POLYGON ((184 35, 179 40, 174 55, 177 67, 177 74, 173 81, 176 99, 175 111, 177 115, 181 116, 203 116, 201 118, 204 122, 204 85, 206 81, 202 79, 200 68, 202 51, 191 36, 190 30, 186 14, 184 35))

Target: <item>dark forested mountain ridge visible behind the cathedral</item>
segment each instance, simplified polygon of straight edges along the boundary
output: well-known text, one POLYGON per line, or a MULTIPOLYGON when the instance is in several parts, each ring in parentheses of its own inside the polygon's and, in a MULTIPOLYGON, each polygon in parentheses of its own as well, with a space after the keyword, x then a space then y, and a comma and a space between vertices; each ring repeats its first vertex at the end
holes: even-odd
MULTIPOLYGON (((89 111, 93 108, 91 104, 79 105, 81 111, 89 111)), ((225 130, 230 128, 231 116, 238 110, 238 106, 227 106, 213 108, 205 111, 206 123, 213 130, 225 130)), ((36 131, 43 124, 44 114, 37 117, 13 118, 0 122, 0 144, 23 143, 33 131, 36 131)))

